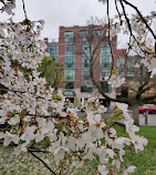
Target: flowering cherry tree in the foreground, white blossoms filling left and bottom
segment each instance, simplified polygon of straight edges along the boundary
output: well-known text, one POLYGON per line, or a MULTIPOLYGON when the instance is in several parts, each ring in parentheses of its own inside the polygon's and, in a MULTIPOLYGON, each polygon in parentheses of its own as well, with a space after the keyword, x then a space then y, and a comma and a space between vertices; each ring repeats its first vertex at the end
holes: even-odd
MULTIPOLYGON (((0 1, 2 11, 12 13, 15 1, 0 1)), ((13 154, 28 152, 52 174, 71 174, 83 166, 85 159, 98 159, 96 174, 124 175, 135 166, 124 163, 125 147, 144 151, 147 140, 136 135, 138 127, 128 115, 127 105, 116 103, 112 119, 102 117, 106 109, 92 97, 82 104, 84 115, 66 103, 61 92, 46 87, 39 78, 38 63, 46 54, 40 39, 44 22, 25 20, 19 23, 0 22, 0 140, 3 146, 14 146, 13 154), (13 61, 18 66, 12 66, 13 61), (20 68, 30 74, 25 76, 20 68), (126 136, 118 135, 113 122, 125 119, 126 136), (54 172, 35 152, 49 153, 58 163, 54 172), (62 168, 66 167, 66 168, 62 168)), ((111 80, 113 81, 113 79, 111 80)))

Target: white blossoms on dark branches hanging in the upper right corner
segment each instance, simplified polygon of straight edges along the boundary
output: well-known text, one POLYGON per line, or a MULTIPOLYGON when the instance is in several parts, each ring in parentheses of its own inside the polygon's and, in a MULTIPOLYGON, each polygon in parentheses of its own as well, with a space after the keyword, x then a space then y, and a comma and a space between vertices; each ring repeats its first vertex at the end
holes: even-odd
MULTIPOLYGON (((152 76, 154 76, 156 66, 155 39, 153 39, 146 24, 138 14, 132 14, 129 24, 124 18, 125 14, 122 12, 121 16, 117 14, 115 19, 111 20, 111 35, 115 37, 116 33, 121 32, 129 35, 127 54, 142 58, 142 63, 147 68, 147 71, 152 73, 152 76), (117 21, 118 18, 121 18, 119 21, 117 21)), ((144 17, 144 20, 152 25, 154 18, 155 13, 152 12, 149 16, 144 17)))

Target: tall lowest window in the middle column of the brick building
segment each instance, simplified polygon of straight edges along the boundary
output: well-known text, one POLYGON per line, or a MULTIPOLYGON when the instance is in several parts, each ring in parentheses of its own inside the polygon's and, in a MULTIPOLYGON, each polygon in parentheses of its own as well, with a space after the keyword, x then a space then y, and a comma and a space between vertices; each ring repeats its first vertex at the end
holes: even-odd
POLYGON ((82 70, 81 92, 91 92, 92 81, 89 70, 82 70))

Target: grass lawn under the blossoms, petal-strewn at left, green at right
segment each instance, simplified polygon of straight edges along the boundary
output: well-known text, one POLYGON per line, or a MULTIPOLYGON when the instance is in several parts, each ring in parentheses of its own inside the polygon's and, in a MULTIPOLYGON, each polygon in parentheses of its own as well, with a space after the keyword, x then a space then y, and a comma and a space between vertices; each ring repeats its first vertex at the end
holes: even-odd
MULTIPOLYGON (((156 126, 141 126, 138 134, 148 140, 148 145, 138 154, 127 151, 125 162, 137 167, 134 175, 156 175, 156 126)), ((41 156, 54 169, 53 158, 48 154, 41 156)), ((96 175, 93 169, 95 162, 85 164, 75 172, 75 175, 96 175)), ((0 146, 0 175, 50 175, 50 173, 30 154, 22 153, 17 157, 12 155, 12 147, 0 146)))

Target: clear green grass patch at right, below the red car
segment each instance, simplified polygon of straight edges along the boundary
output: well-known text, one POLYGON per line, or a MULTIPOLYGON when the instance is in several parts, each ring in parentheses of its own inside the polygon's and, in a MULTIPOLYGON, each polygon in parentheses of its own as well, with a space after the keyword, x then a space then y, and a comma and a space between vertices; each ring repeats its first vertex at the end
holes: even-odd
POLYGON ((137 168, 134 175, 156 175, 156 126, 141 126, 139 135, 148 140, 144 152, 128 151, 125 161, 137 168))

